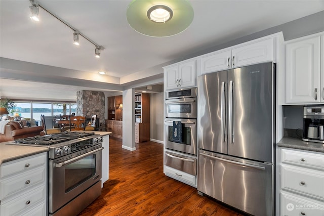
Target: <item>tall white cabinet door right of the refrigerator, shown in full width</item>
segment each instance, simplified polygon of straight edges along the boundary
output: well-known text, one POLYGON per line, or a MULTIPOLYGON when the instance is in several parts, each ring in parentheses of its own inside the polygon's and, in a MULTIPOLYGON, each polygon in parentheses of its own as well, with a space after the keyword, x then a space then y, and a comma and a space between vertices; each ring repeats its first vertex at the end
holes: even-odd
POLYGON ((286 103, 320 101, 320 38, 286 45, 286 103))

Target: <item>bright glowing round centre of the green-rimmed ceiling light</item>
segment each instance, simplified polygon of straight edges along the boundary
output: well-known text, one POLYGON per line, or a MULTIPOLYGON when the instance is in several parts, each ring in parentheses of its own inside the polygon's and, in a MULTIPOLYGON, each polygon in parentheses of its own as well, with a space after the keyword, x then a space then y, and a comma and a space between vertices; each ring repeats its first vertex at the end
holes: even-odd
POLYGON ((147 17, 153 22, 165 23, 171 20, 173 11, 166 5, 154 5, 147 11, 147 17))

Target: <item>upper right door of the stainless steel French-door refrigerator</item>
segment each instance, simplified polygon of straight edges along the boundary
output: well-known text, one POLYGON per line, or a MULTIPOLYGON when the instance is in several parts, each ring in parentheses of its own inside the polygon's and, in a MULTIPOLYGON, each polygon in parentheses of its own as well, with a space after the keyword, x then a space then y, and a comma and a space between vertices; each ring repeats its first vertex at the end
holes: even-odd
POLYGON ((228 154, 274 161, 273 64, 228 72, 228 154))

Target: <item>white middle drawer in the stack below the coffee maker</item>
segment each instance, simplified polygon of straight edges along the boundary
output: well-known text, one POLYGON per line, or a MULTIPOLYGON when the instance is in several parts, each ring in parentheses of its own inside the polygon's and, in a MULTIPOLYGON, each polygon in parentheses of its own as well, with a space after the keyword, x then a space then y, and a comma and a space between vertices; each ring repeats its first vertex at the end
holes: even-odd
POLYGON ((281 165, 281 189, 324 200, 324 172, 281 165))

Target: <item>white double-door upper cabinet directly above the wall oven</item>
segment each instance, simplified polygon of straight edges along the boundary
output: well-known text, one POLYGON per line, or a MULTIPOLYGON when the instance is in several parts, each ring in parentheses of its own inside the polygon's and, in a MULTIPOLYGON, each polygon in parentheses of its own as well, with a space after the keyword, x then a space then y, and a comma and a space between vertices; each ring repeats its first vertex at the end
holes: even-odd
POLYGON ((164 68, 166 90, 196 85, 196 60, 180 62, 164 68))

